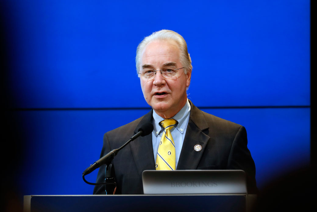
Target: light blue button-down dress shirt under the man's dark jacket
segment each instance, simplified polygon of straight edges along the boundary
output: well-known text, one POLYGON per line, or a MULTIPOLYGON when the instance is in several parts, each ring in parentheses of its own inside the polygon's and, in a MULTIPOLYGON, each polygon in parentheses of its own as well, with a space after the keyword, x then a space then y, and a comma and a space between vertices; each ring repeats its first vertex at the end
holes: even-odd
MULTIPOLYGON (((191 113, 191 105, 187 99, 184 107, 174 116, 172 119, 177 121, 176 126, 174 126, 171 130, 171 134, 175 143, 175 167, 177 168, 178 159, 180 152, 183 147, 184 138, 186 134, 186 129, 189 121, 189 115, 191 113)), ((164 118, 160 117, 153 110, 153 131, 152 131, 152 144, 153 144, 153 153, 154 153, 154 161, 156 161, 156 156, 158 153, 159 142, 161 141, 162 135, 164 133, 164 128, 159 125, 159 122, 163 121, 164 118)))

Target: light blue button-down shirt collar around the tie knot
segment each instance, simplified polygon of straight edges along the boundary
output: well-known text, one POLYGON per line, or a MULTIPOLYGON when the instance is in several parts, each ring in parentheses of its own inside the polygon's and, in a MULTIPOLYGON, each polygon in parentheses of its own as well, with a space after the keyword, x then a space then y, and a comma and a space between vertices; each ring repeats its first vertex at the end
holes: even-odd
MULTIPOLYGON (((175 116, 172 117, 172 119, 175 119, 177 121, 177 129, 180 133, 184 133, 184 128, 186 126, 186 120, 188 120, 189 114, 191 112, 191 105, 189 104, 189 101, 187 99, 184 107, 176 113, 175 116)), ((163 121, 164 118, 160 117, 155 111, 153 110, 153 126, 154 126, 154 133, 156 136, 159 135, 159 133, 163 130, 163 128, 159 125, 159 122, 163 121)))

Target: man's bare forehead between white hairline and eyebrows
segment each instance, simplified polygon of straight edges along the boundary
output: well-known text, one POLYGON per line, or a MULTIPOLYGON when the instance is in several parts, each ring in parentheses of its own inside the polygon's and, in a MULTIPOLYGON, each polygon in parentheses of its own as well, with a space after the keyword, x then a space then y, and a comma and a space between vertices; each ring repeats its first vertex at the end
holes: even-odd
POLYGON ((154 40, 142 52, 141 66, 162 65, 166 62, 179 62, 179 48, 173 40, 154 40))

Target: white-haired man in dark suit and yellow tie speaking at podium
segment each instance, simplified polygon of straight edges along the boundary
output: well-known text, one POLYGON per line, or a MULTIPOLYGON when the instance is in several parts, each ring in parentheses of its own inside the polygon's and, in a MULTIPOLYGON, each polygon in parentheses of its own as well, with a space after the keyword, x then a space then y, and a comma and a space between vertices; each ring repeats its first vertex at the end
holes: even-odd
MULTIPOLYGON (((242 169, 248 192, 256 193, 245 128, 204 113, 187 99, 192 66, 184 38, 170 30, 144 38, 137 48, 136 68, 152 110, 105 133, 100 156, 121 147, 143 123, 151 122, 154 130, 114 157, 115 194, 143 194, 142 172, 151 169, 242 169)), ((104 179, 105 166, 101 166, 97 182, 104 179)), ((105 186, 95 186, 94 194, 105 194, 105 186)))

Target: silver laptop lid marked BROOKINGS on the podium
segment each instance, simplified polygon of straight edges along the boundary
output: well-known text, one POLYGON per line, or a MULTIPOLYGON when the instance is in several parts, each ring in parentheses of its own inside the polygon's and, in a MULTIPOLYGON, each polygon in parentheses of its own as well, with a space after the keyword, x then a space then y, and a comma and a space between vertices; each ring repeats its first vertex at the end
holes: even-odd
POLYGON ((243 170, 145 170, 144 194, 247 194, 243 170))

